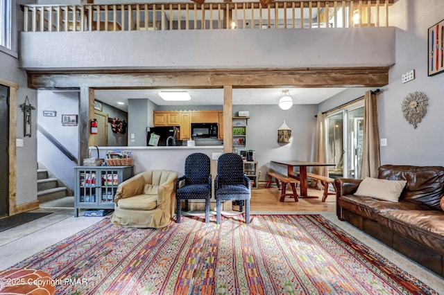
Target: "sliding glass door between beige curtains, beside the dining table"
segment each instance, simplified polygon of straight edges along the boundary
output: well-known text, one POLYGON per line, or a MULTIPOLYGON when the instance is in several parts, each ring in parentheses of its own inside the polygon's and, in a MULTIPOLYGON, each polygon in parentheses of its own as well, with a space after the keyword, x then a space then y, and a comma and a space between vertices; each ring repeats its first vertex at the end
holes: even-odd
POLYGON ((330 177, 359 179, 364 141, 364 103, 341 109, 327 116, 328 163, 330 177))

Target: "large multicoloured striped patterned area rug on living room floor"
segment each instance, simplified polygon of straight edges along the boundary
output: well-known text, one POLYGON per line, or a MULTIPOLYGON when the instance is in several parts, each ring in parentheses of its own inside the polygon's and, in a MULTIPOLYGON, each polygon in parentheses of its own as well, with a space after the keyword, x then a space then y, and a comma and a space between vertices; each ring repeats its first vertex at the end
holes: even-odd
POLYGON ((105 218, 11 268, 46 271, 57 294, 438 294, 321 215, 242 220, 105 218))

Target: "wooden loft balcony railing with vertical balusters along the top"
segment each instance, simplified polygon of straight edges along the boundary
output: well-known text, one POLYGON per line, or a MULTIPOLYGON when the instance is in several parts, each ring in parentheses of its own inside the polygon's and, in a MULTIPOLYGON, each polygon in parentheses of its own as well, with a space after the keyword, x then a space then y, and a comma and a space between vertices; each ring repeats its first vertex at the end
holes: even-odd
POLYGON ((24 32, 388 26, 393 0, 26 5, 24 32))

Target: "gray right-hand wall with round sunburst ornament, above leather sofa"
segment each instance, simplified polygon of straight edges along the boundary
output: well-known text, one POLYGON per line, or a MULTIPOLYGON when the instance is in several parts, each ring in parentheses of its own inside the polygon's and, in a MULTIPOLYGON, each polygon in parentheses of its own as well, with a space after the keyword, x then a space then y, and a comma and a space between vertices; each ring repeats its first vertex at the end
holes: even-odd
MULTIPOLYGON (((427 29, 444 17, 442 0, 395 1, 391 6, 391 26, 396 26, 396 64, 389 71, 389 84, 379 93, 379 147, 382 164, 444 166, 444 73, 427 76, 427 29), (402 73, 415 70, 416 78, 402 84, 402 73), (429 98, 427 114, 416 129, 404 119, 402 100, 420 91, 429 98)), ((341 105, 363 95, 365 89, 348 89, 319 105, 319 111, 341 105)))

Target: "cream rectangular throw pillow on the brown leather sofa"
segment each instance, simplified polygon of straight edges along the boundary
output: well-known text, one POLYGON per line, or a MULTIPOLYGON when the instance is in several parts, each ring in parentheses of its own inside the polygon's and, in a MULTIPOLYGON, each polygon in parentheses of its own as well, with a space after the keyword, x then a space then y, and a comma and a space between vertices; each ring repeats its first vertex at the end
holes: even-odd
POLYGON ((366 177, 355 193, 360 197, 374 197, 389 202, 398 202, 398 199, 407 184, 405 180, 387 180, 366 177))

